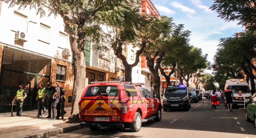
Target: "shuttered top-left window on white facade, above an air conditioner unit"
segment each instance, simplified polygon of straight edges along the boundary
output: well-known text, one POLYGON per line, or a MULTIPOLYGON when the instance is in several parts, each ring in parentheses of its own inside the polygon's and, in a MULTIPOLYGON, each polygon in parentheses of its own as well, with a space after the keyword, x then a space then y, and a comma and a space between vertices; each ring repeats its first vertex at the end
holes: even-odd
POLYGON ((14 11, 13 15, 13 25, 12 29, 14 31, 24 31, 26 32, 26 27, 27 27, 27 16, 22 15, 21 13, 18 13, 14 11))

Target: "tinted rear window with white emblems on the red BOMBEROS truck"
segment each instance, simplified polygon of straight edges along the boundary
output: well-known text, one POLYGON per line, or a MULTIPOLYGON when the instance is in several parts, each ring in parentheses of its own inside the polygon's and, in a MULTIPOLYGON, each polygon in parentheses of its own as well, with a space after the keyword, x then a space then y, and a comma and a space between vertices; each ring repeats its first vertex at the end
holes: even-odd
POLYGON ((95 96, 118 96, 117 86, 89 86, 85 92, 84 97, 95 97, 95 96))

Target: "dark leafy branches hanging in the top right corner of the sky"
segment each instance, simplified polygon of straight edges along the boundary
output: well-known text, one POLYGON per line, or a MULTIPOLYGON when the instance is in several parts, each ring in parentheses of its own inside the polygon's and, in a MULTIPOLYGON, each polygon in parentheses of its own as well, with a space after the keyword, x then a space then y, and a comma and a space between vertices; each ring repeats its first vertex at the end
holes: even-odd
POLYGON ((218 17, 226 21, 238 20, 238 25, 247 29, 256 30, 256 0, 214 0, 211 10, 216 10, 218 17))

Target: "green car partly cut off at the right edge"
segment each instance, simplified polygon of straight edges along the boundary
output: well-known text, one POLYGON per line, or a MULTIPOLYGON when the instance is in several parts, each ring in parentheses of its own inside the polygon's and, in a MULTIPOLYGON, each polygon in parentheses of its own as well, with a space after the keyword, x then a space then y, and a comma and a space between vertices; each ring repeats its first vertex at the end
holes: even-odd
POLYGON ((254 121, 254 125, 256 128, 256 93, 252 95, 250 99, 247 100, 247 106, 245 110, 246 121, 254 121))

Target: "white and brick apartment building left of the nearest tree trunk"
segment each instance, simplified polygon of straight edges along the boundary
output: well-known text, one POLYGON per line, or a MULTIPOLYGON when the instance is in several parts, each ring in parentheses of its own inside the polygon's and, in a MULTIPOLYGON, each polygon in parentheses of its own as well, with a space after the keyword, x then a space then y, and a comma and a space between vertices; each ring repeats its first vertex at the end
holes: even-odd
POLYGON ((39 83, 46 87, 48 81, 64 86, 65 106, 71 106, 74 66, 62 18, 8 7, 0 1, 0 113, 11 111, 20 84, 28 95, 23 110, 37 109, 39 83))

